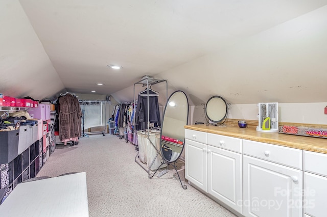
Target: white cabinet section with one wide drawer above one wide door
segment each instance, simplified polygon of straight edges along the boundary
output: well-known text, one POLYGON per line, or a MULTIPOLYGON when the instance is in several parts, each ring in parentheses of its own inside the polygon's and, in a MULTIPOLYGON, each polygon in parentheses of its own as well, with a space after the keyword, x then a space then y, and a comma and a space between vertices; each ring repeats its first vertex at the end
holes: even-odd
POLYGON ((302 216, 301 162, 298 149, 243 140, 243 215, 302 216))

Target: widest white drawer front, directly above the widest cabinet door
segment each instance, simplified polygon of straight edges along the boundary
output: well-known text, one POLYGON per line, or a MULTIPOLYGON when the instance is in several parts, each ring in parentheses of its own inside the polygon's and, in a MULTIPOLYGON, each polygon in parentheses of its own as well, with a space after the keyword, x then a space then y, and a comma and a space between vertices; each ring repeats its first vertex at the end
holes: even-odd
POLYGON ((243 140, 243 154, 302 170, 302 150, 243 140))

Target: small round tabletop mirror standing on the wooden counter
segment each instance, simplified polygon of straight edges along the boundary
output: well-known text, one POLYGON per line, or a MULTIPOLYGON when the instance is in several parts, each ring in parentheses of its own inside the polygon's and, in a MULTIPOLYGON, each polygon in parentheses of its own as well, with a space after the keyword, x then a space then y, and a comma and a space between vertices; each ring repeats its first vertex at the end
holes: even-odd
POLYGON ((217 124, 227 117, 227 103, 220 96, 213 96, 208 99, 205 105, 205 117, 209 123, 217 124))

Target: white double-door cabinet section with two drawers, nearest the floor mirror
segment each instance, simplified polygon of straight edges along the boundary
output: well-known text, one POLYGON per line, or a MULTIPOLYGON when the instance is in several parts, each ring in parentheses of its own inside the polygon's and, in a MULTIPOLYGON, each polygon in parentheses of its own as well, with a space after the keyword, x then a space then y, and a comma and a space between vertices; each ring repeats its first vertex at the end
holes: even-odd
POLYGON ((242 214, 242 140, 194 130, 185 138, 185 178, 242 214))

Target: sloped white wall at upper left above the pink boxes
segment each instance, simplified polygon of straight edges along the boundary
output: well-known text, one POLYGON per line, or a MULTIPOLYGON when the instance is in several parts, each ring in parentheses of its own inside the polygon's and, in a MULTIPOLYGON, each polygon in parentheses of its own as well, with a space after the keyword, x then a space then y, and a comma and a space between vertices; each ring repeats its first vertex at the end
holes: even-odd
POLYGON ((0 93, 40 100, 64 89, 19 1, 1 0, 0 14, 0 93))

